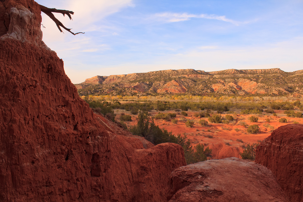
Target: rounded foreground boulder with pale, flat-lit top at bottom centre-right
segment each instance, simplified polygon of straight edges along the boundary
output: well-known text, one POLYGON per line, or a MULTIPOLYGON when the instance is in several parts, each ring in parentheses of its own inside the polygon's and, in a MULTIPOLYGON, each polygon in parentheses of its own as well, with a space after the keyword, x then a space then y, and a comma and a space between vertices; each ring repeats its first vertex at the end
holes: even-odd
POLYGON ((179 167, 171 173, 169 202, 289 201, 266 167, 236 157, 179 167))

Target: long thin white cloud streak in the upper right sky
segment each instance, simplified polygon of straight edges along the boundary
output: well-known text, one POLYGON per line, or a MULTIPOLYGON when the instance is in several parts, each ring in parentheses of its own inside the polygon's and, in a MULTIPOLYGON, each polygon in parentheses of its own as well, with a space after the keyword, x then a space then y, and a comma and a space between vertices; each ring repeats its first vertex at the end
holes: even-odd
POLYGON ((221 20, 225 22, 230 22, 236 26, 240 24, 240 22, 231 20, 223 16, 218 15, 208 15, 208 14, 188 14, 188 13, 170 13, 170 12, 164 12, 164 13, 156 13, 152 16, 152 18, 155 18, 159 21, 165 21, 165 22, 180 22, 180 21, 186 21, 190 20, 191 18, 206 18, 206 19, 213 19, 213 20, 221 20))

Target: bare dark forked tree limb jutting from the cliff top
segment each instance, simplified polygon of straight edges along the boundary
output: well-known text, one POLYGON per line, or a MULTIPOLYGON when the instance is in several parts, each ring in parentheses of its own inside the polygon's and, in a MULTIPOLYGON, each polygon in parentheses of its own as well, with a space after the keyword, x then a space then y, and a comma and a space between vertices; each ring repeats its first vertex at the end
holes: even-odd
MULTIPOLYGON (((63 16, 65 16, 65 14, 66 14, 66 15, 68 15, 69 19, 72 20, 71 14, 74 15, 74 12, 72 12, 72 11, 67 11, 67 10, 58 10, 58 9, 56 9, 56 8, 47 8, 47 7, 45 7, 45 6, 43 6, 43 5, 40 5, 40 4, 39 4, 39 6, 40 6, 41 11, 44 12, 46 15, 48 15, 48 17, 50 17, 50 18, 56 23, 58 29, 59 29, 61 32, 63 32, 63 31, 62 31, 62 29, 60 28, 60 26, 61 26, 62 28, 64 28, 65 30, 69 31, 70 33, 72 33, 73 35, 76 35, 76 34, 79 34, 79 33, 82 33, 82 34, 85 33, 85 32, 73 33, 73 32, 71 31, 71 29, 66 28, 66 27, 65 27, 57 18, 55 18, 55 15, 52 14, 52 12, 54 12, 54 13, 62 13, 63 16)), ((63 32, 63 33, 64 33, 64 32, 63 32)))

